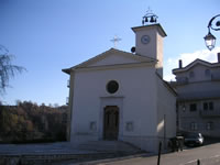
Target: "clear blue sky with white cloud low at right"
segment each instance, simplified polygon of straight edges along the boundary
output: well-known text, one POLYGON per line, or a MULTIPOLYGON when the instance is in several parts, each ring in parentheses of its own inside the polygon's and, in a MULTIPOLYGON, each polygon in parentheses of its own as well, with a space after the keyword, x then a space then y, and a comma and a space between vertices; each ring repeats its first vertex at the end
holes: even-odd
POLYGON ((164 40, 164 75, 173 78, 178 58, 184 65, 195 58, 216 62, 220 52, 204 43, 209 20, 220 13, 219 0, 0 0, 0 44, 15 56, 13 64, 28 72, 10 80, 0 100, 65 105, 68 97, 67 68, 111 47, 114 35, 122 38, 118 50, 134 46, 132 26, 141 25, 148 7, 167 33, 164 40))

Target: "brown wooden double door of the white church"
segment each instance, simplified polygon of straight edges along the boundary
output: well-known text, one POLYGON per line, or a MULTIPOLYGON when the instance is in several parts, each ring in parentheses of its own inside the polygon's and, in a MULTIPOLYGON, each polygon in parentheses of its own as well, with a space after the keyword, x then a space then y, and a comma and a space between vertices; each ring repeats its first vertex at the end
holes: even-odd
POLYGON ((103 111, 103 140, 118 140, 119 108, 117 106, 107 106, 103 111))

